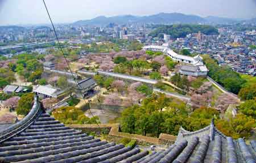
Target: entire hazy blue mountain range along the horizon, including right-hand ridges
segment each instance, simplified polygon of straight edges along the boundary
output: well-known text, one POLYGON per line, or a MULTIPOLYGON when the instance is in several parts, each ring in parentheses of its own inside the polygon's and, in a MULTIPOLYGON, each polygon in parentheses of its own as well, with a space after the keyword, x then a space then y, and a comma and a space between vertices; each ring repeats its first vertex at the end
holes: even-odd
POLYGON ((221 18, 218 16, 207 16, 205 18, 197 15, 186 15, 181 13, 159 13, 148 16, 133 16, 133 15, 122 15, 122 16, 98 16, 97 18, 90 20, 80 20, 73 24, 76 25, 107 25, 110 23, 126 24, 126 23, 155 23, 155 24, 174 24, 174 23, 214 23, 214 24, 227 24, 227 23, 238 23, 238 22, 256 22, 255 19, 243 20, 243 19, 232 19, 232 18, 221 18))

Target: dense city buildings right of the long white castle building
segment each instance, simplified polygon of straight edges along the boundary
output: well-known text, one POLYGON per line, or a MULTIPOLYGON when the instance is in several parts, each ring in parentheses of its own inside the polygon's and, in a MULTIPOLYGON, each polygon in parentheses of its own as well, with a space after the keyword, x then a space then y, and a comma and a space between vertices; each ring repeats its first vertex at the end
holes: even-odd
MULTIPOLYGON (((191 33, 185 38, 168 40, 172 49, 188 49, 192 54, 209 54, 220 65, 226 65, 232 70, 243 74, 256 75, 256 45, 255 30, 237 32, 229 28, 220 28, 220 35, 207 36, 203 33, 191 33)), ((159 42, 162 44, 162 42, 159 42)))

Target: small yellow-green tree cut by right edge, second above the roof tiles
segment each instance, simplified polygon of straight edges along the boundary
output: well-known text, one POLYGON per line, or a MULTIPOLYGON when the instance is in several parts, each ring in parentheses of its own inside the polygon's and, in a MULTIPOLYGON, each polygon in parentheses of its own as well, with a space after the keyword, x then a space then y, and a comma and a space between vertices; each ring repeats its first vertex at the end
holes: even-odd
POLYGON ((255 100, 246 100, 242 103, 238 109, 245 115, 251 116, 256 119, 256 101, 255 100))

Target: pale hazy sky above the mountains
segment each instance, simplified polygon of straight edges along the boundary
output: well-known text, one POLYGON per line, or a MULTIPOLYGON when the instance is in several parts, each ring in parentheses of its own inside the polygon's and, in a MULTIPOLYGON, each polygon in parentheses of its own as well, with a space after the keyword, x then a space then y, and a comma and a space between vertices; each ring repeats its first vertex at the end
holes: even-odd
MULTIPOLYGON (((181 12, 200 16, 255 18, 256 0, 45 0, 55 23, 96 16, 181 12)), ((0 25, 49 23, 42 0, 0 0, 0 25)))

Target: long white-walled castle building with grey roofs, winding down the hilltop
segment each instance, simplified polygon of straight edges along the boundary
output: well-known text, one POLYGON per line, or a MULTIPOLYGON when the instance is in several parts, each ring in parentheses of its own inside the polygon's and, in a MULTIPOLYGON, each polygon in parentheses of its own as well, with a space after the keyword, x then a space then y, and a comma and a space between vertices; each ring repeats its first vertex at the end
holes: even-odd
POLYGON ((168 48, 168 45, 148 45, 143 47, 144 50, 152 50, 156 52, 163 52, 168 55, 174 61, 179 63, 185 63, 179 68, 180 74, 189 76, 207 76, 208 69, 203 63, 203 58, 200 55, 190 57, 187 55, 180 55, 168 48))

